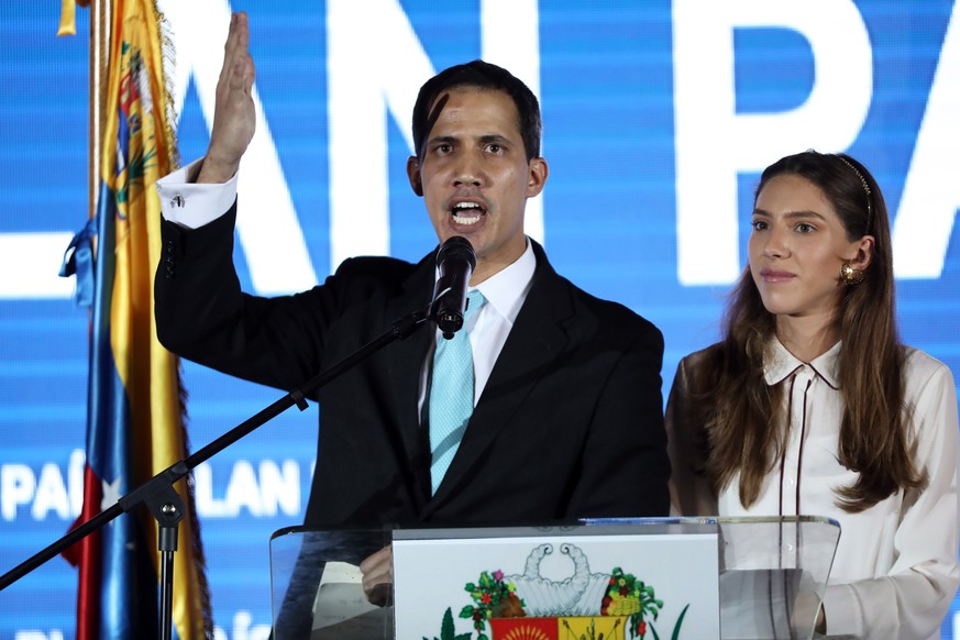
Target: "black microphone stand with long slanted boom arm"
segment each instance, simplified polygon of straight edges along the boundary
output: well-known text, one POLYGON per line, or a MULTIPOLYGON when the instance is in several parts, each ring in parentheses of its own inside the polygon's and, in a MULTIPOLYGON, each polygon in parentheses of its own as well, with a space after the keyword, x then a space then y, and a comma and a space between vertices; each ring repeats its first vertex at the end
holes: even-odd
POLYGON ((166 470, 159 472, 144 484, 140 485, 117 504, 104 511, 100 511, 66 536, 29 558, 14 569, 0 576, 0 591, 3 591, 34 569, 45 563, 65 549, 97 531, 120 514, 132 510, 140 504, 145 504, 157 521, 157 547, 161 551, 161 619, 159 632, 163 640, 170 640, 173 629, 173 587, 174 587, 174 552, 177 550, 177 526, 184 517, 184 503, 179 494, 174 489, 174 483, 190 473, 198 464, 220 453, 251 431, 265 424, 276 416, 283 413, 294 405, 305 411, 308 396, 336 378, 345 371, 366 360, 387 344, 396 340, 409 338, 413 331, 428 320, 435 321, 435 302, 446 295, 449 289, 440 291, 434 300, 426 308, 415 311, 395 321, 390 328, 367 344, 361 346, 354 353, 347 355, 327 371, 310 378, 304 385, 294 389, 276 402, 269 405, 258 413, 247 418, 207 446, 203 446, 186 460, 181 460, 166 470))

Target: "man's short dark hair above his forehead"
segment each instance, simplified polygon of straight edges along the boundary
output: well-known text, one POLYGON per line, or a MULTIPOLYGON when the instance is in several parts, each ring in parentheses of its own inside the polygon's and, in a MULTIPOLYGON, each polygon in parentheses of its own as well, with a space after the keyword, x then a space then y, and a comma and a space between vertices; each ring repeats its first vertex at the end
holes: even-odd
POLYGON ((413 144, 418 158, 423 157, 423 145, 439 115, 439 113, 431 113, 431 106, 438 96, 456 87, 493 89, 508 95, 514 100, 520 117, 518 124, 527 161, 540 157, 542 123, 537 96, 507 69, 484 60, 473 60, 443 69, 420 87, 417 103, 413 106, 413 144))

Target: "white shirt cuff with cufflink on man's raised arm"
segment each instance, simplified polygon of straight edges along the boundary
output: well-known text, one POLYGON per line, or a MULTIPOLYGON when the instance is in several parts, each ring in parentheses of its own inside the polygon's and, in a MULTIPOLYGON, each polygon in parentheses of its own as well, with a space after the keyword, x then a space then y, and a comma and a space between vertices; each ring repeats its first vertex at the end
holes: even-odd
POLYGON ((236 200, 236 175, 223 184, 196 184, 200 162, 156 181, 164 220, 187 229, 197 229, 223 216, 236 200))

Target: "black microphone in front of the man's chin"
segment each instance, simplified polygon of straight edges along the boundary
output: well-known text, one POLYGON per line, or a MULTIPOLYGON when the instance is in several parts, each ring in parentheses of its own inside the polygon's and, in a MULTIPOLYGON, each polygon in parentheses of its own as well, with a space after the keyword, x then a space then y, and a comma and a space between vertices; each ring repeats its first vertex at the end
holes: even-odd
POLYGON ((466 289, 470 276, 476 266, 473 245, 465 238, 454 235, 440 245, 437 251, 437 268, 440 277, 433 288, 430 317, 450 340, 463 327, 463 312, 466 310, 466 289))

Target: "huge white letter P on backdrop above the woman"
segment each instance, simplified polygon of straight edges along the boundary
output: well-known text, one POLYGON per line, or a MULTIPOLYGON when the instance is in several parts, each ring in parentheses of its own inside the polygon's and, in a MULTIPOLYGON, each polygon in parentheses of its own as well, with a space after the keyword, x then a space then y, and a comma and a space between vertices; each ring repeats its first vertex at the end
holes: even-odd
POLYGON ((673 3, 677 279, 733 282, 739 256, 737 174, 805 148, 842 151, 870 106, 867 27, 849 0, 673 3), (736 112, 733 31, 791 29, 814 56, 806 101, 777 113, 736 112))

